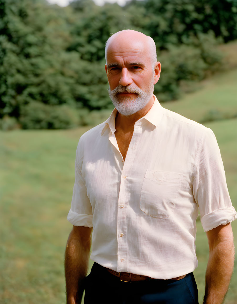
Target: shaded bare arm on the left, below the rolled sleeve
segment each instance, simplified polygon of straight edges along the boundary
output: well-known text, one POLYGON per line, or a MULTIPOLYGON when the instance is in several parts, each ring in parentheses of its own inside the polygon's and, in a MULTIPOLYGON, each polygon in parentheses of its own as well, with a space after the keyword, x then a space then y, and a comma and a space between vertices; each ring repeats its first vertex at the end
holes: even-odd
POLYGON ((67 304, 81 303, 87 275, 92 228, 73 226, 65 250, 65 278, 67 304))

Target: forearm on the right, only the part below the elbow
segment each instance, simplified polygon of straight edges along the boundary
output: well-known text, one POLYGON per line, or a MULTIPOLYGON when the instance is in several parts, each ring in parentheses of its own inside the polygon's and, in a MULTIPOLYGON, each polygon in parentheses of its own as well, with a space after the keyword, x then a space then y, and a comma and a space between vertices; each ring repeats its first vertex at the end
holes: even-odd
POLYGON ((232 241, 222 241, 210 250, 203 304, 223 302, 233 272, 234 257, 232 241))

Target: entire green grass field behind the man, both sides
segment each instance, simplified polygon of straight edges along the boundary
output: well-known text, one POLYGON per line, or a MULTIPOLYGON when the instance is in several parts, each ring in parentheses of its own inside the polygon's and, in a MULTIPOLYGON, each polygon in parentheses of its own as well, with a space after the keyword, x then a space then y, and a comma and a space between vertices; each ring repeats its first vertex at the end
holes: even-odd
MULTIPOLYGON (((236 80, 237 70, 216 75, 205 81, 199 91, 163 106, 196 121, 209 109, 234 113, 236 80)), ((217 137, 229 193, 237 208, 237 119, 205 125, 217 137)), ((0 303, 65 303, 63 259, 72 228, 66 217, 74 183, 76 146, 88 129, 0 133, 0 303)), ((232 227, 236 236, 237 221, 232 227)), ((194 275, 201 303, 209 250, 200 221, 196 247, 199 267, 194 275)), ((236 285, 235 266, 226 304, 237 303, 236 285)))

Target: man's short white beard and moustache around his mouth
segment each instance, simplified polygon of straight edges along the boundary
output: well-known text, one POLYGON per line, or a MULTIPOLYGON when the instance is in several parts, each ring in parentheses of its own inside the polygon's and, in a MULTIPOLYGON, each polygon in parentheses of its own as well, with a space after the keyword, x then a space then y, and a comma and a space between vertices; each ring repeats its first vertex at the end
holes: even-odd
POLYGON ((150 98, 154 92, 153 79, 150 82, 148 88, 145 91, 140 88, 133 87, 132 85, 124 87, 123 85, 118 85, 114 90, 109 88, 109 97, 112 100, 115 108, 118 112, 124 116, 132 115, 147 105, 150 98), (118 97, 118 93, 135 93, 136 97, 118 97))

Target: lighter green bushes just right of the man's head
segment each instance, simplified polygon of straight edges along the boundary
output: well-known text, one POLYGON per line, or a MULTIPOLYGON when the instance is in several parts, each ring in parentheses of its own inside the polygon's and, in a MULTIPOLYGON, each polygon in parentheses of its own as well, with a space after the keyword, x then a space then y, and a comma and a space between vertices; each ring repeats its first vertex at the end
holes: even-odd
POLYGON ((213 32, 192 37, 192 43, 175 46, 157 54, 161 62, 161 77, 154 93, 160 102, 178 99, 180 84, 200 81, 218 71, 222 54, 217 49, 213 32))

